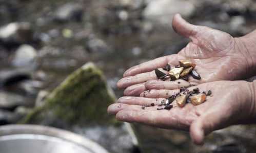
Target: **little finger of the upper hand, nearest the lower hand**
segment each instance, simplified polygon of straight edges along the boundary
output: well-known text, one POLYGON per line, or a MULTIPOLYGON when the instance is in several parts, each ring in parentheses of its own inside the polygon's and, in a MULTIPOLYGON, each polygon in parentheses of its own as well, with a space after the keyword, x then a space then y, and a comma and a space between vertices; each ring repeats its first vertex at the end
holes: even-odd
POLYGON ((180 89, 181 87, 189 86, 190 84, 196 85, 196 83, 188 82, 182 79, 175 81, 162 81, 162 80, 148 80, 145 83, 146 89, 167 89, 174 90, 180 89))

